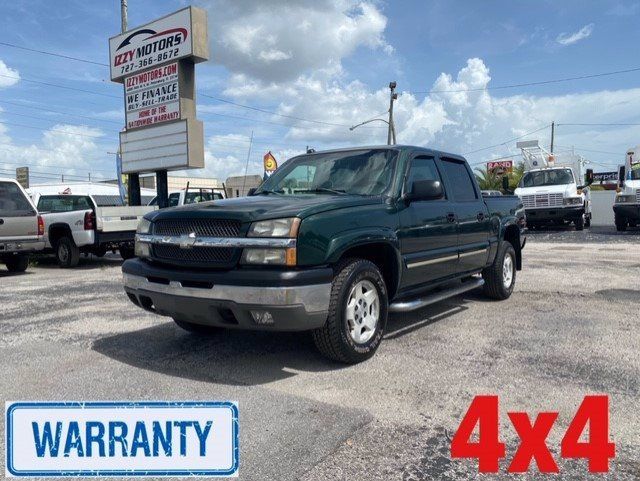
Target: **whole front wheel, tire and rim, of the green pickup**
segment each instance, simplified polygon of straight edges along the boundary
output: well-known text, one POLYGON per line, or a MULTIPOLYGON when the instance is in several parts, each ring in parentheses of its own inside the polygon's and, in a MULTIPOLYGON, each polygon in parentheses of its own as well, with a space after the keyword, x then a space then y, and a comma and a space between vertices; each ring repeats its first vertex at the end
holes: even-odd
POLYGON ((382 342, 388 305, 378 266, 347 259, 336 269, 327 322, 313 331, 316 347, 325 357, 345 364, 369 359, 382 342))

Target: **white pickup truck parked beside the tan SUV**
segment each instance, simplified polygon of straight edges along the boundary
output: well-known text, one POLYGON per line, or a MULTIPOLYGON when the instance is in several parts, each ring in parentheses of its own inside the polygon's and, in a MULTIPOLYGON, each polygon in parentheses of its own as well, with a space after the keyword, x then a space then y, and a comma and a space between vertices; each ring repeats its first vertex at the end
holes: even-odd
POLYGON ((60 267, 78 265, 80 253, 102 257, 119 250, 123 259, 134 257, 138 222, 155 210, 121 205, 118 196, 71 188, 56 193, 41 186, 33 187, 30 193, 45 221, 45 249, 53 251, 60 267))

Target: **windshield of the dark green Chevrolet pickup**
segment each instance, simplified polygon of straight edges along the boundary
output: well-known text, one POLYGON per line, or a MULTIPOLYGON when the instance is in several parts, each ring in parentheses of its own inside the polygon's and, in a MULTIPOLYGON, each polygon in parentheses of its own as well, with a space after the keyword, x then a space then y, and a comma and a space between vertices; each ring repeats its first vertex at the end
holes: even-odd
POLYGON ((380 195, 391 183, 397 155, 395 150, 367 149, 296 157, 264 181, 256 195, 380 195))

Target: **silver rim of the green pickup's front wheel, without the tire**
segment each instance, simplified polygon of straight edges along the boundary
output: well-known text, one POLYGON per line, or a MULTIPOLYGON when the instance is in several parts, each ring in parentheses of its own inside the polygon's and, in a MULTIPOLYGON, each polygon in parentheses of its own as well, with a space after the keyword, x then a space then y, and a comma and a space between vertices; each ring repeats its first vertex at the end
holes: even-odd
POLYGON ((372 282, 362 280, 351 288, 345 317, 353 342, 365 344, 371 339, 380 319, 380 298, 372 282))

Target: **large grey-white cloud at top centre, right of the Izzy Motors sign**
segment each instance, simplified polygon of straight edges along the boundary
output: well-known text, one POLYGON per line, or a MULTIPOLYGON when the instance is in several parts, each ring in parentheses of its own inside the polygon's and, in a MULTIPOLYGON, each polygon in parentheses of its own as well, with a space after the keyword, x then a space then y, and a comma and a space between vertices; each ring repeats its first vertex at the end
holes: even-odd
POLYGON ((208 0, 213 59, 261 83, 335 66, 359 47, 393 52, 371 1, 208 0))

